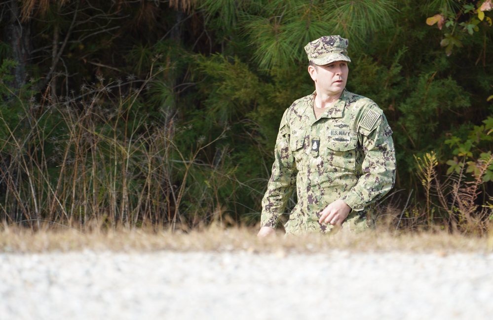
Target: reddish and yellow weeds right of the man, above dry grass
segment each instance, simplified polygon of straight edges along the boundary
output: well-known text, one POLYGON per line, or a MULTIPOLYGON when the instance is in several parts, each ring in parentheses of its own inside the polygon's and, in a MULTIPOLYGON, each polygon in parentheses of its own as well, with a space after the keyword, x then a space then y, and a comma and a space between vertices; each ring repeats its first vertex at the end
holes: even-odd
POLYGON ((478 198, 484 192, 486 182, 483 177, 493 163, 493 156, 487 161, 478 160, 479 170, 476 173, 468 174, 461 170, 443 177, 437 172, 438 159, 435 152, 415 157, 415 160, 416 175, 421 182, 424 199, 416 197, 409 204, 409 194, 402 210, 397 209, 402 207, 402 201, 388 201, 386 206, 380 208, 385 212, 380 221, 384 228, 408 232, 444 231, 474 236, 484 236, 492 230, 493 206, 487 200, 478 201, 478 198))

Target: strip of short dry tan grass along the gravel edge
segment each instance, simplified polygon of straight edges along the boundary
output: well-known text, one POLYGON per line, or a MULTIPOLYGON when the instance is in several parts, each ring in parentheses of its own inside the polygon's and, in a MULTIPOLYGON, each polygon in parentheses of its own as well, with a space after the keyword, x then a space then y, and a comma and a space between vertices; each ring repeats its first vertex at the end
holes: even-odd
POLYGON ((0 252, 39 253, 90 249, 95 251, 246 251, 250 253, 315 253, 331 249, 354 252, 406 251, 446 255, 453 252, 493 252, 493 236, 471 237, 443 233, 391 234, 367 232, 336 236, 278 235, 258 239, 257 229, 210 227, 189 233, 121 229, 81 233, 75 229, 33 232, 18 227, 0 230, 0 252))

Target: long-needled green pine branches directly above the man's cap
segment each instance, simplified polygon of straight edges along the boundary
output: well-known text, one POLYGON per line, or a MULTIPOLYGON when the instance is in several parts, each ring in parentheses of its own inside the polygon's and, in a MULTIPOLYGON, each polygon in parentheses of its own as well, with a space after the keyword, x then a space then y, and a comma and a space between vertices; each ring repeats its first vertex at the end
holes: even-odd
POLYGON ((350 37, 361 48, 368 34, 392 22, 394 1, 265 1, 255 14, 245 13, 242 27, 255 47, 254 59, 261 68, 292 66, 306 61, 303 47, 326 35, 350 37))

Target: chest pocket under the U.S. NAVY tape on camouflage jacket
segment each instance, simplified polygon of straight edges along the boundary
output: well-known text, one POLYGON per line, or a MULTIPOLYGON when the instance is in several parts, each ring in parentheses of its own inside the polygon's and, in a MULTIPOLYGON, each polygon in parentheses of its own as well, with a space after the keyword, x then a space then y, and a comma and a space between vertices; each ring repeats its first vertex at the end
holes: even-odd
POLYGON ((358 139, 356 135, 341 137, 330 136, 327 141, 327 164, 329 171, 355 171, 356 147, 358 139))

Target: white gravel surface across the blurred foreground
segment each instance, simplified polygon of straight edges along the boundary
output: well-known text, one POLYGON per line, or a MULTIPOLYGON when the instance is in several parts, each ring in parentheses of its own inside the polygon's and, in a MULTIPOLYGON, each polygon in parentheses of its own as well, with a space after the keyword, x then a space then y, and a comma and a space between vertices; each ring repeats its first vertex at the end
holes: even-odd
POLYGON ((492 318, 493 254, 0 254, 0 320, 492 318))

